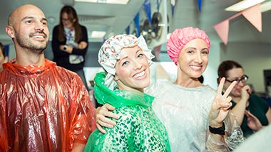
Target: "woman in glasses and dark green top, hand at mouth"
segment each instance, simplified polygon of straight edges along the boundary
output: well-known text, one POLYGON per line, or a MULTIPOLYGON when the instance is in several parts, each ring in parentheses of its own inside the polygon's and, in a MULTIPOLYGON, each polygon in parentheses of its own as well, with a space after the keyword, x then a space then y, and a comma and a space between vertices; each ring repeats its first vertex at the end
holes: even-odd
POLYGON ((271 109, 264 99, 251 93, 250 86, 246 85, 248 76, 242 65, 233 60, 223 61, 218 67, 218 83, 222 77, 226 77, 224 90, 231 82, 237 81, 229 96, 232 98, 232 112, 245 137, 271 123, 271 109))

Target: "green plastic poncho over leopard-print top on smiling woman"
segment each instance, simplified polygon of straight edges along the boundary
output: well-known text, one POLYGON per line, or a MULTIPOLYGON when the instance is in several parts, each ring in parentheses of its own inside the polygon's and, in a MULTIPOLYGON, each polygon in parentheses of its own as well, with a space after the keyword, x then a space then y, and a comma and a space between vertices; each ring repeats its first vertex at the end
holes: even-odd
POLYGON ((100 104, 109 103, 120 115, 113 129, 106 134, 97 129, 88 139, 85 151, 170 151, 165 126, 153 112, 153 97, 128 90, 111 91, 104 83, 106 74, 94 78, 95 97, 100 104))

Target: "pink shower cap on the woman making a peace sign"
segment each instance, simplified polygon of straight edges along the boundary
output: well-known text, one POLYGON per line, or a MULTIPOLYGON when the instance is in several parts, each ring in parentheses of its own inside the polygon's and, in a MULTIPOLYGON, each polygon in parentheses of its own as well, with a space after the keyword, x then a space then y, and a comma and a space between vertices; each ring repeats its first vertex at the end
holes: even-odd
POLYGON ((208 48, 210 49, 210 39, 206 35, 205 31, 200 30, 199 28, 177 28, 173 33, 171 33, 170 38, 167 41, 167 50, 169 57, 173 60, 175 65, 177 65, 178 57, 183 47, 190 42, 190 40, 194 40, 196 38, 205 40, 208 48))

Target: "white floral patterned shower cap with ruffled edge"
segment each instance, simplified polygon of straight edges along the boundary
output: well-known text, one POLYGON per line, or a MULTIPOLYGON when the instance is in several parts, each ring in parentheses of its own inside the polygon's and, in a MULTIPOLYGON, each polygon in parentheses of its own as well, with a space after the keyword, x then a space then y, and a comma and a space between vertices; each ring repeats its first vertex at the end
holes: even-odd
POLYGON ((98 63, 100 63, 107 72, 105 85, 109 87, 109 89, 113 90, 114 87, 116 87, 116 82, 113 80, 113 76, 116 74, 115 65, 117 60, 120 59, 121 49, 136 45, 143 50, 144 55, 148 58, 149 65, 151 65, 151 59, 153 59, 154 56, 151 53, 151 50, 148 49, 143 36, 140 36, 139 38, 127 34, 111 36, 101 46, 98 52, 98 63))

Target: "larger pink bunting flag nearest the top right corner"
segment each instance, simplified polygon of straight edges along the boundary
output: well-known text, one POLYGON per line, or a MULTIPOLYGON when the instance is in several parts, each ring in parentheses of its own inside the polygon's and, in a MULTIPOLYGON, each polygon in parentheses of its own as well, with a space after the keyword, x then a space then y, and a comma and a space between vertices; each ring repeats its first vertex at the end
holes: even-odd
POLYGON ((262 32, 262 11, 260 11, 260 4, 242 11, 242 15, 247 18, 247 21, 250 21, 258 31, 262 32))

